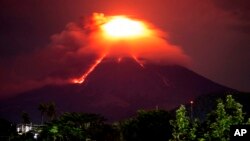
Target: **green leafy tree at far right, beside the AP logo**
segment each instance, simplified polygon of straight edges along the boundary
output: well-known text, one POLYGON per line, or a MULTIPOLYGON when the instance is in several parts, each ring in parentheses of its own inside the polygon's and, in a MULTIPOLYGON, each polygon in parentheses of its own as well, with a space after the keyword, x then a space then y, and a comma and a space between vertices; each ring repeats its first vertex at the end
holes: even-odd
POLYGON ((242 108, 243 106, 236 102, 232 95, 228 95, 225 101, 219 99, 216 109, 208 115, 206 120, 204 139, 229 140, 231 125, 247 124, 242 108))

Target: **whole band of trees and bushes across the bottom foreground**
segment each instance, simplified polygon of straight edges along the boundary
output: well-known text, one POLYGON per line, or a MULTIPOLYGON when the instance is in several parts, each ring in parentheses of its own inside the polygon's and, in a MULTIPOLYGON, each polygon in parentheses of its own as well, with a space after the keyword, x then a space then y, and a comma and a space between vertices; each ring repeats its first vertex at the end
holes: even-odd
MULTIPOLYGON (((243 106, 231 95, 218 99, 216 108, 205 120, 192 117, 184 105, 172 115, 164 110, 139 110, 135 117, 107 123, 97 114, 63 113, 56 117, 55 104, 42 103, 40 127, 19 135, 15 126, 1 119, 0 140, 40 141, 228 141, 231 125, 250 124, 243 106), (7 130, 6 130, 7 129, 7 130), (39 133, 37 138, 34 134, 39 133)), ((27 113, 24 124, 30 123, 27 113)))

